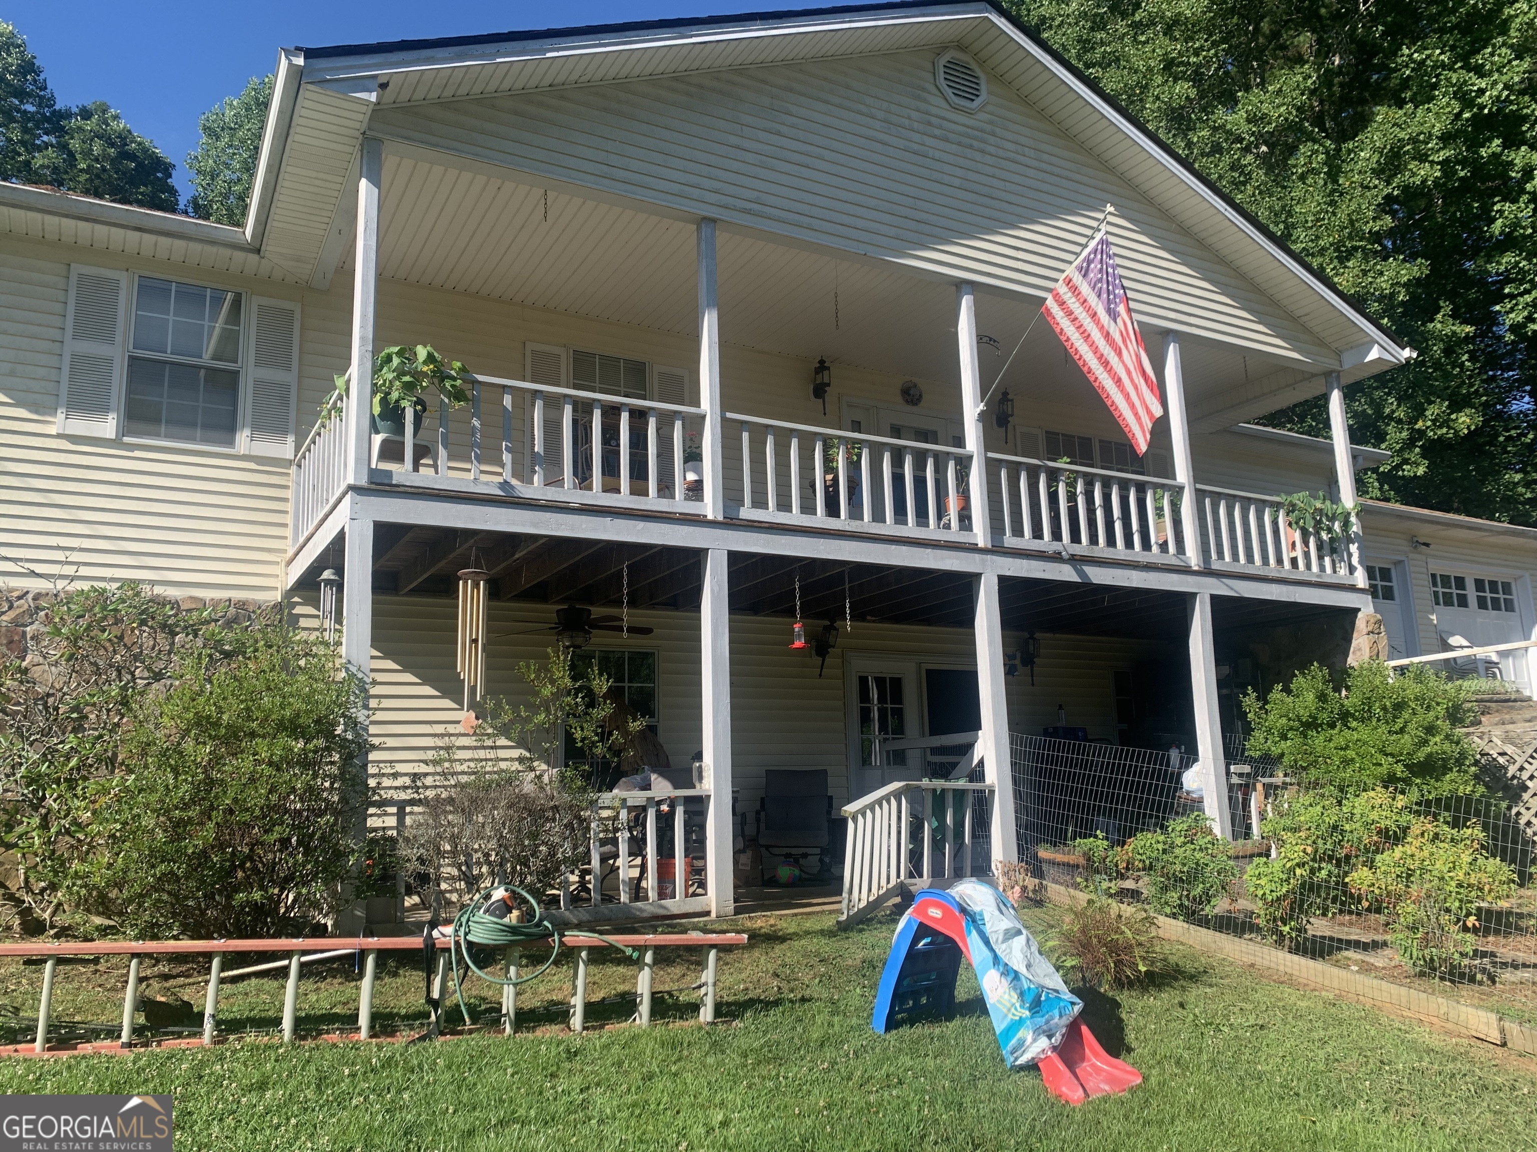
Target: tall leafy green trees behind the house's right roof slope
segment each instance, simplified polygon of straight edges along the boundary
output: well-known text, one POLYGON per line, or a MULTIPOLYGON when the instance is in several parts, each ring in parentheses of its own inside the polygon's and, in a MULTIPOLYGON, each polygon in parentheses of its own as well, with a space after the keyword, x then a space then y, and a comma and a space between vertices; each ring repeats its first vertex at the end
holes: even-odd
POLYGON ((1010 6, 1419 350, 1349 390, 1363 495, 1537 524, 1537 0, 1010 6))

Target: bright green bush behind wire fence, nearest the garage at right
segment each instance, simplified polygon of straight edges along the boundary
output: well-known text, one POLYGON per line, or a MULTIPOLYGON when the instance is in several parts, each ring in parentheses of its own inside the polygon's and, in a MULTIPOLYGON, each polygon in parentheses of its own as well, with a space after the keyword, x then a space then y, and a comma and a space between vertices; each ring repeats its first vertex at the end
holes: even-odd
POLYGON ((1254 727, 1250 754, 1277 756, 1288 771, 1345 791, 1408 785, 1426 796, 1477 791, 1477 754, 1457 731, 1472 723, 1468 691, 1411 665, 1388 676, 1380 660, 1346 673, 1340 691, 1322 665, 1297 673, 1243 710, 1254 727))

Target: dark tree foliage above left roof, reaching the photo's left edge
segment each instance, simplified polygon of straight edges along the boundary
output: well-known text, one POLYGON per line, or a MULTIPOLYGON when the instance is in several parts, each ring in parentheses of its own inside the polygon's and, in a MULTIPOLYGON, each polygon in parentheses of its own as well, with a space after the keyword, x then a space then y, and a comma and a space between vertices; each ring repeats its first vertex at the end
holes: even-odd
POLYGON ((174 169, 105 101, 60 106, 26 40, 0 22, 0 180, 175 212, 174 169))

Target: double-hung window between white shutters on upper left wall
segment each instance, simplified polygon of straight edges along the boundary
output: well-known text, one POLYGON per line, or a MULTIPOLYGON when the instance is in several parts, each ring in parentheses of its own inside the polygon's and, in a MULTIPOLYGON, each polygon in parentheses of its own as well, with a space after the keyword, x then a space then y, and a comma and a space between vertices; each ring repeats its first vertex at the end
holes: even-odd
POLYGON ((244 296, 140 276, 123 435, 235 447, 244 296))

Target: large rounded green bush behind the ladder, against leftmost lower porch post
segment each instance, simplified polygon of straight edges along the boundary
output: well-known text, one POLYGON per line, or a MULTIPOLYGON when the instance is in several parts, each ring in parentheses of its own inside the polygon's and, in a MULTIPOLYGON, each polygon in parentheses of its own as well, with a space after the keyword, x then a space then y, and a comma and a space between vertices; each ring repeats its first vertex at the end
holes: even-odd
POLYGON ((318 636, 257 622, 141 693, 118 773, 89 790, 66 899, 135 937, 289 935, 358 857, 367 685, 318 636))

